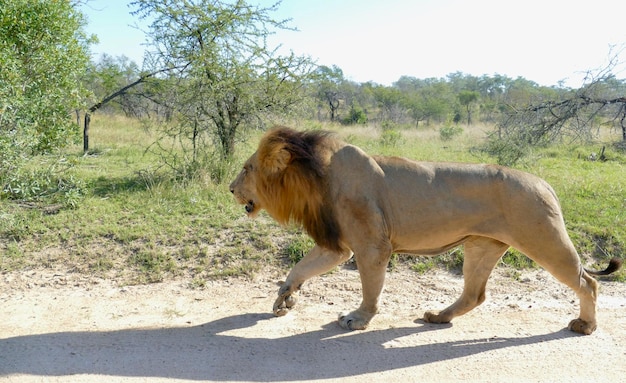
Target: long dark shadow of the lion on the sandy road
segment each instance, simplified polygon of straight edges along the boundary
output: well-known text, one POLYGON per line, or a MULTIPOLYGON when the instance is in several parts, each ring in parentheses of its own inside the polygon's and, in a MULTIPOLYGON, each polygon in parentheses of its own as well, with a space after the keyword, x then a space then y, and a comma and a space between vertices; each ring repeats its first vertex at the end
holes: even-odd
POLYGON ((238 329, 270 318, 268 314, 244 314, 199 326, 59 332, 0 339, 0 376, 101 374, 213 381, 330 379, 575 336, 562 330, 519 338, 385 347, 387 342, 405 336, 445 330, 418 324, 345 334, 336 323, 277 339, 272 339, 271 334, 267 338, 233 335, 238 329))

